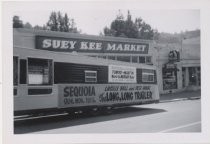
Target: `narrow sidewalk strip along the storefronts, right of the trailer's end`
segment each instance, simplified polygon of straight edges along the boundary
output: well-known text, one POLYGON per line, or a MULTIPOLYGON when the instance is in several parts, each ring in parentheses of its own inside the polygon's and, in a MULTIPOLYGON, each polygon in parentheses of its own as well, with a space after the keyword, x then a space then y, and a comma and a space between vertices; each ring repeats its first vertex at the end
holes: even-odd
POLYGON ((201 91, 183 91, 178 93, 171 94, 161 94, 160 95, 160 103, 163 102, 172 102, 179 100, 189 100, 189 99, 200 99, 201 91))

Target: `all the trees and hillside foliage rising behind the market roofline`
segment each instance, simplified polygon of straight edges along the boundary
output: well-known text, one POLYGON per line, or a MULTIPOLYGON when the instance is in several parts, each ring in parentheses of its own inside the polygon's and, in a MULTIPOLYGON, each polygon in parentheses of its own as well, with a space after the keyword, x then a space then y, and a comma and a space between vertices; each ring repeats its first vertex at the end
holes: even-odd
MULTIPOLYGON (((13 28, 28 28, 38 30, 51 30, 61 32, 80 33, 75 26, 74 19, 70 19, 65 13, 51 12, 49 20, 43 26, 35 25, 34 27, 29 23, 23 23, 19 16, 13 17, 13 28)), ((145 23, 141 18, 132 20, 132 16, 128 11, 126 19, 121 12, 116 16, 110 24, 110 27, 105 27, 103 34, 105 36, 128 37, 139 39, 153 39, 160 43, 179 43, 183 38, 199 37, 200 30, 185 31, 180 33, 158 33, 157 30, 145 23)))

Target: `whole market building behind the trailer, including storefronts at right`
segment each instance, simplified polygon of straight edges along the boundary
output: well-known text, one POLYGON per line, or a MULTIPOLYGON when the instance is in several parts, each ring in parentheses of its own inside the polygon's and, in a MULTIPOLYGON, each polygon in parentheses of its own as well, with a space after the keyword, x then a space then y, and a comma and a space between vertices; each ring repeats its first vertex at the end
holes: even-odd
POLYGON ((82 55, 154 65, 161 94, 200 89, 200 37, 180 43, 91 36, 33 29, 14 29, 20 47, 80 53, 82 55))

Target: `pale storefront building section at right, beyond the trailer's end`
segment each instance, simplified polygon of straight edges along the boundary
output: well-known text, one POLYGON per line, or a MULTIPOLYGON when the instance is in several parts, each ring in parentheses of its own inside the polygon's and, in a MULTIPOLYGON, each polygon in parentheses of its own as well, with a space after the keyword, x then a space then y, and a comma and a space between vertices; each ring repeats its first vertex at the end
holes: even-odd
POLYGON ((200 37, 180 43, 157 44, 156 63, 160 93, 201 88, 200 37))

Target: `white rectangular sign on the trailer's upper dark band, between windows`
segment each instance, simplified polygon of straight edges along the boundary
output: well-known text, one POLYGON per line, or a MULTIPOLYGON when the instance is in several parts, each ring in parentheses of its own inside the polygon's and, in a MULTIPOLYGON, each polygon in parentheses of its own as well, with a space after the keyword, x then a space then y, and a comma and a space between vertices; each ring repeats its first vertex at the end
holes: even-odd
POLYGON ((136 83, 136 68, 109 65, 110 83, 136 83))

